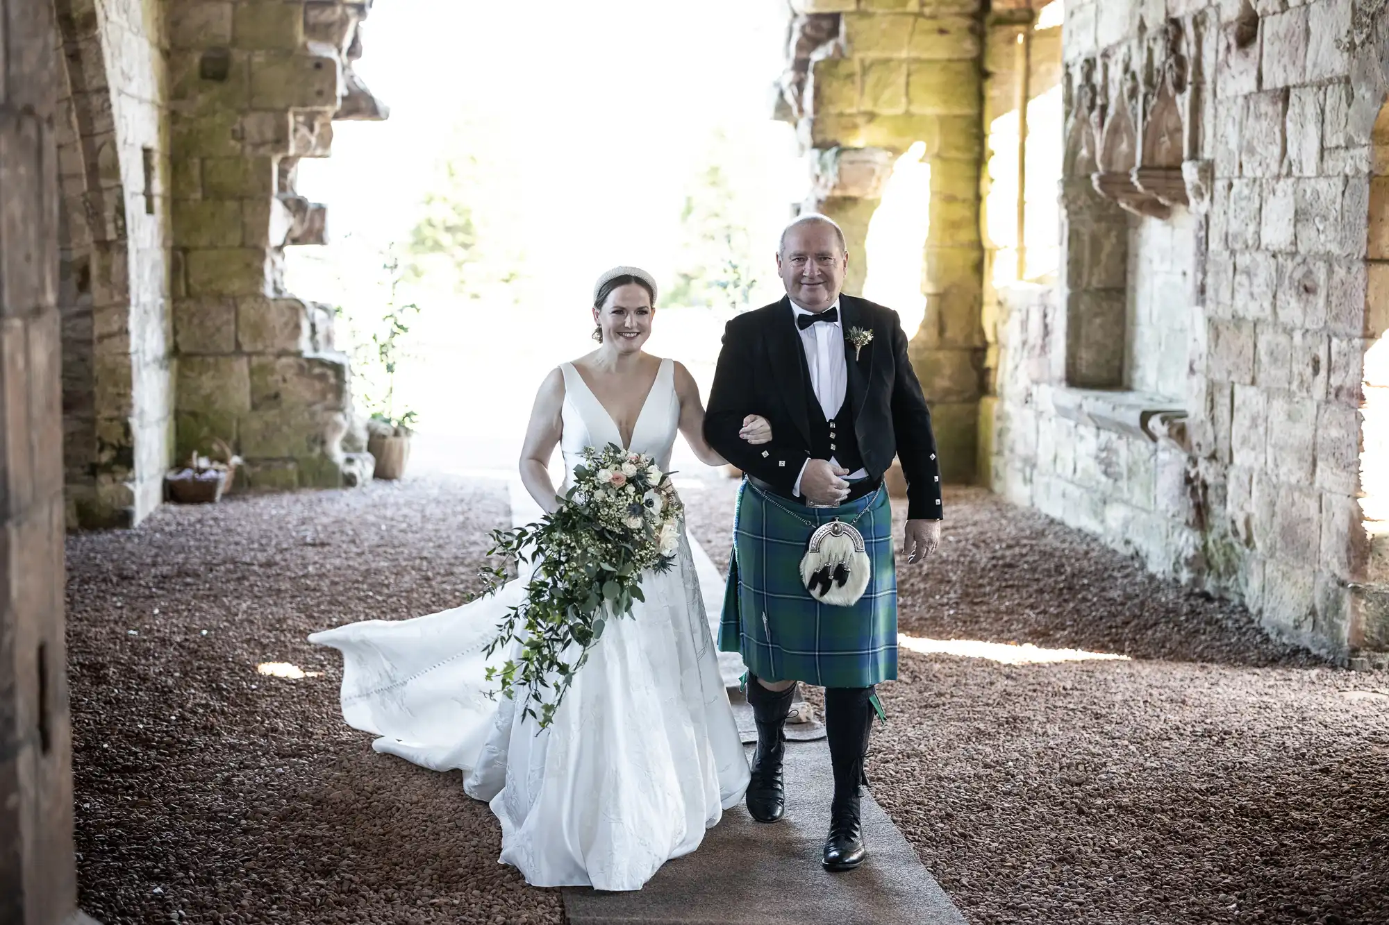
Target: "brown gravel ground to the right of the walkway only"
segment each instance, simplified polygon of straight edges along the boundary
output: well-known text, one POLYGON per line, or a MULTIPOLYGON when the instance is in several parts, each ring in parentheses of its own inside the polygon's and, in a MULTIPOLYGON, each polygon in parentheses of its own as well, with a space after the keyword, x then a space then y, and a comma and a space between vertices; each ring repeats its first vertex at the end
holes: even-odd
MULTIPOLYGON (((686 499, 720 564, 732 492, 686 499)), ((1389 675, 986 492, 946 506, 904 633, 1132 657, 901 653, 874 796, 971 921, 1389 922, 1389 675)))

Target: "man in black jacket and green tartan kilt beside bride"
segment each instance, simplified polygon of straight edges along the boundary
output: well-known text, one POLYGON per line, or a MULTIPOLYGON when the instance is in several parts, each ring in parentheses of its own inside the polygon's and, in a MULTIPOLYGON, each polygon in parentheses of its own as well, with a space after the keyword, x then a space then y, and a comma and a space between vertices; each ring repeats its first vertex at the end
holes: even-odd
POLYGON ((749 667, 757 751, 747 811, 760 822, 782 818, 782 726, 795 686, 824 686, 835 797, 822 862, 831 871, 863 864, 858 788, 872 718, 882 712, 875 685, 897 676, 892 508, 882 483, 893 456, 907 479, 908 562, 935 551, 942 515, 931 412, 907 335, 892 310, 840 294, 847 264, 831 219, 803 215, 786 226, 776 254, 786 299, 728 322, 704 418, 706 439, 746 474, 720 649, 749 667), (740 439, 754 414, 771 421, 771 443, 740 439), (833 521, 861 533, 867 557, 803 578, 811 536, 833 521), (857 590, 864 579, 861 596, 847 600, 845 588, 857 590), (836 589, 842 596, 829 603, 836 589))

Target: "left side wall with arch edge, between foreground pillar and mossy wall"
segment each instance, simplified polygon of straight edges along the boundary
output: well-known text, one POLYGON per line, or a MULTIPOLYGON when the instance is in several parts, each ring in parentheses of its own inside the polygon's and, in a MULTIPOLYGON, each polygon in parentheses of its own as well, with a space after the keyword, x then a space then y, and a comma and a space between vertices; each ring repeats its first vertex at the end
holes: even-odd
POLYGON ((68 524, 158 506, 172 443, 163 11, 54 0, 68 524))

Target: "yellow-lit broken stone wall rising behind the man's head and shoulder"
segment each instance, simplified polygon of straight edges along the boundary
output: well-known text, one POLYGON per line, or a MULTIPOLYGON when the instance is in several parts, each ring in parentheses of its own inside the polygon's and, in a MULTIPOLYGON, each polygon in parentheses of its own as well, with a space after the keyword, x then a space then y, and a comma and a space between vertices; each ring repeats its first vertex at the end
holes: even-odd
POLYGON ((922 269, 926 315, 913 335, 940 446, 942 471, 975 478, 983 375, 979 324, 982 158, 981 0, 793 0, 779 115, 797 125, 813 165, 806 203, 849 236, 857 293, 864 242, 893 162, 914 143, 931 162, 922 269))

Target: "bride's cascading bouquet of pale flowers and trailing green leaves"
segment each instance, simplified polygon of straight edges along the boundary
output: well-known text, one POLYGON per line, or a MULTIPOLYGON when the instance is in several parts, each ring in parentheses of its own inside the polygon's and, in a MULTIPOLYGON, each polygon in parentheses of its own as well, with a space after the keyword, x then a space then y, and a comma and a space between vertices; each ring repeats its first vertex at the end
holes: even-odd
MULTIPOLYGON (((486 678, 500 681, 507 697, 524 689, 526 715, 542 729, 607 621, 631 615, 632 601, 646 600, 642 572, 675 564, 682 512, 669 475, 651 457, 608 443, 583 451, 560 510, 536 524, 492 532, 489 556, 515 556, 535 571, 525 599, 507 611, 488 646, 490 656, 519 642, 521 654, 489 668, 486 678)), ((506 569, 489 569, 488 579, 488 593, 494 593, 506 569)))

